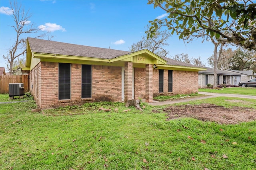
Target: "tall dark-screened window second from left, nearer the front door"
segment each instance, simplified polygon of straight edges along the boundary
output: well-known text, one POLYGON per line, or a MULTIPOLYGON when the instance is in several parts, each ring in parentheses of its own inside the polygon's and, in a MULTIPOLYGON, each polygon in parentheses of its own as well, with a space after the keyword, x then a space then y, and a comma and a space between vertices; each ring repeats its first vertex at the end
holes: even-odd
POLYGON ((92 97, 92 66, 82 64, 82 98, 92 97))

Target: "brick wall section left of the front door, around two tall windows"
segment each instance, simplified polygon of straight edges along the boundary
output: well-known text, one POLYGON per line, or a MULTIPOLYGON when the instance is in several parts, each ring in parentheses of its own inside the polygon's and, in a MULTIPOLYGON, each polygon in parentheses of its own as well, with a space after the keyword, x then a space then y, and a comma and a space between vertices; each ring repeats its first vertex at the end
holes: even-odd
POLYGON ((71 99, 58 100, 58 63, 39 63, 30 71, 34 99, 41 108, 122 100, 122 67, 93 65, 92 98, 84 99, 81 98, 81 72, 81 64, 71 64, 71 99))

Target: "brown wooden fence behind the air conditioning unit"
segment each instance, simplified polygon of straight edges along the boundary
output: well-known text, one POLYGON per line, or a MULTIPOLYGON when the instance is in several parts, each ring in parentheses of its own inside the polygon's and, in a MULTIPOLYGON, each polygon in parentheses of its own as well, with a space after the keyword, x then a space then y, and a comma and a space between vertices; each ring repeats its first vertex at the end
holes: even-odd
POLYGON ((24 92, 29 91, 28 75, 1 75, 0 76, 0 94, 9 93, 9 83, 24 83, 24 92))

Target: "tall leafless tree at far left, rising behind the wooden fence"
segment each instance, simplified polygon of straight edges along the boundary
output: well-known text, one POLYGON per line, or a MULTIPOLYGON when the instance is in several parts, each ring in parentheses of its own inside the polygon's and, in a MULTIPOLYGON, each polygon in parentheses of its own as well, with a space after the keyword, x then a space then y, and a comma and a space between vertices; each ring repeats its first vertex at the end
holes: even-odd
POLYGON ((26 12, 18 2, 12 3, 10 1, 10 9, 12 13, 9 15, 13 18, 15 23, 11 27, 14 28, 16 37, 14 44, 8 50, 7 55, 3 55, 3 58, 8 62, 9 72, 12 74, 14 61, 26 53, 26 35, 40 33, 40 35, 36 36, 38 38, 44 37, 48 33, 42 33, 38 27, 34 26, 30 21, 32 14, 30 14, 29 11, 26 12))

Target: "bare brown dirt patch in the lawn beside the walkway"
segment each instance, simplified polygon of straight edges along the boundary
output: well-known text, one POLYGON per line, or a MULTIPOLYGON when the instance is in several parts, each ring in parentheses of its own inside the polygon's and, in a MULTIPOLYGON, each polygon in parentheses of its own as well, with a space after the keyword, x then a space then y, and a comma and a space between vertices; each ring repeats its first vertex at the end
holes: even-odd
POLYGON ((246 107, 226 108, 214 104, 170 106, 164 109, 167 120, 179 117, 193 117, 202 121, 220 124, 236 124, 256 120, 256 109, 246 107))

